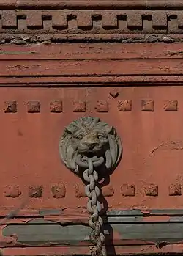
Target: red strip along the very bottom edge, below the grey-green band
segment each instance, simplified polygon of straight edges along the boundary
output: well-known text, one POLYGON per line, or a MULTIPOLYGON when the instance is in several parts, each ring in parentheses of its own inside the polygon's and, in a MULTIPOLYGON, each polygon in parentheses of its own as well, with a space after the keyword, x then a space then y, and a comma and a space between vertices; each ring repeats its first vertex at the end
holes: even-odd
MULTIPOLYGON (((141 246, 107 246, 108 255, 159 255, 162 253, 166 254, 179 254, 182 255, 182 244, 167 244, 160 246, 156 244, 141 245, 141 246)), ((91 255, 89 246, 44 246, 44 247, 25 247, 25 248, 3 248, 1 252, 4 256, 53 256, 53 255, 75 255, 75 252, 78 252, 78 255, 91 255)))

